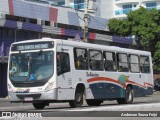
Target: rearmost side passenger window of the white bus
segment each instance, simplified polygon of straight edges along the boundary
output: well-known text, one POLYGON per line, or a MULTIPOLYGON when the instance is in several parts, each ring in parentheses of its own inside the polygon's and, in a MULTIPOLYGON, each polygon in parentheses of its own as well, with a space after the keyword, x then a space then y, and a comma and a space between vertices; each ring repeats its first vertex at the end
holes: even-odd
POLYGON ((140 69, 142 73, 150 73, 150 61, 148 56, 140 56, 140 69))

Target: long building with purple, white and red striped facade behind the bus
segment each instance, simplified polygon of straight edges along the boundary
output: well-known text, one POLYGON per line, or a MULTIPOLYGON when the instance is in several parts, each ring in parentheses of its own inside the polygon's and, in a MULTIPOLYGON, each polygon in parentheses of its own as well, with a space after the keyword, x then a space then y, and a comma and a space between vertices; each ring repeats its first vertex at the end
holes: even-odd
MULTIPOLYGON (((7 65, 11 43, 42 37, 83 39, 83 17, 83 12, 71 7, 30 0, 1 0, 0 97, 7 95, 7 65)), ((107 22, 108 19, 90 12, 88 42, 123 47, 133 44, 132 39, 112 36, 107 22)))

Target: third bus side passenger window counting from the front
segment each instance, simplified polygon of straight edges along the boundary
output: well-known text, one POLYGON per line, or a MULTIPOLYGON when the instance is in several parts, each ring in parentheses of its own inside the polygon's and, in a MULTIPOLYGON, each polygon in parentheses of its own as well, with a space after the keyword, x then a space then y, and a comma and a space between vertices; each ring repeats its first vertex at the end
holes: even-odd
POLYGON ((104 52, 104 68, 106 71, 116 71, 115 53, 104 52))

